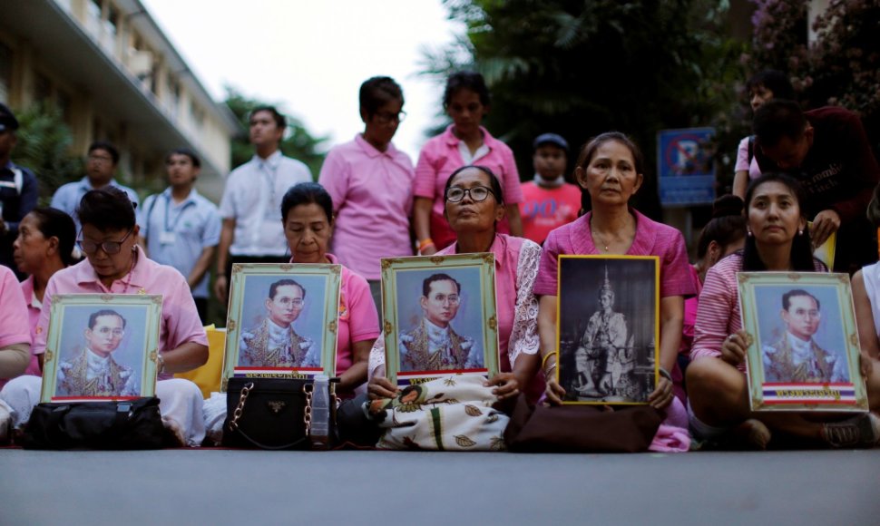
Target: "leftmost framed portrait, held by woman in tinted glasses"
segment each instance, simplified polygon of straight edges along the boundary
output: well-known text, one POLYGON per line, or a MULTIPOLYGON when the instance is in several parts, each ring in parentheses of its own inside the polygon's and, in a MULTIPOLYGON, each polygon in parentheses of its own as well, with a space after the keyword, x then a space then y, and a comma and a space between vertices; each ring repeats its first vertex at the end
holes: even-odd
POLYGON ((55 295, 40 401, 155 395, 161 304, 160 295, 55 295))

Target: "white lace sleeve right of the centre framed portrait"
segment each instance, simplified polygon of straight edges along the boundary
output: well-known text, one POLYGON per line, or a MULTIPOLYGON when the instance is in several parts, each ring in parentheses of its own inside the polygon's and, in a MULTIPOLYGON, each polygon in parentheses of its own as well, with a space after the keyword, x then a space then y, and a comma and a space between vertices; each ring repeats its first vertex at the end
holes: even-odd
POLYGON ((538 298, 533 291, 540 260, 541 247, 533 241, 524 240, 516 264, 516 306, 513 308, 513 330, 507 343, 507 357, 511 367, 520 353, 533 355, 540 346, 538 298))

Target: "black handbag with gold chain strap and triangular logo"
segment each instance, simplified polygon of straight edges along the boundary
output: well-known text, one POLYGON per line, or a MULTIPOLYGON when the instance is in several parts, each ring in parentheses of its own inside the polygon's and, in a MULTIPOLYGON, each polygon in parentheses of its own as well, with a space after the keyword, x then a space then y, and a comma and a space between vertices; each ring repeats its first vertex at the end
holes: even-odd
POLYGON ((311 434, 312 380, 230 378, 224 447, 268 450, 327 449, 336 442, 336 403, 329 384, 328 434, 311 434))

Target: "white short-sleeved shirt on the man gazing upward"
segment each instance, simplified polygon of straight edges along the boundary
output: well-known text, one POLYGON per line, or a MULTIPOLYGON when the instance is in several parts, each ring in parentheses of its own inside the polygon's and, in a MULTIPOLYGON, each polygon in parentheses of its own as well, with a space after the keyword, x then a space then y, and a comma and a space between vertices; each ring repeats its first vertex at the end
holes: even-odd
POLYGON ((220 200, 220 217, 236 221, 230 254, 286 255, 281 199, 290 187, 311 180, 305 164, 284 157, 280 151, 267 159, 255 155, 232 170, 220 200))

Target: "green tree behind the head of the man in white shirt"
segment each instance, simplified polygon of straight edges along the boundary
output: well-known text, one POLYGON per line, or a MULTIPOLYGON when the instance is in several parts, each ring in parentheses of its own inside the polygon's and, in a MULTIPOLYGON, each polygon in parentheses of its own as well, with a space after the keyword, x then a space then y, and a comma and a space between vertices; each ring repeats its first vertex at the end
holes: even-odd
MULTIPOLYGON (((241 94, 234 88, 226 87, 226 105, 241 123, 243 130, 249 128, 248 118, 250 112, 259 106, 276 106, 279 112, 284 112, 279 104, 251 99, 241 94)), ((312 177, 318 179, 321 163, 324 162, 325 151, 321 151, 321 143, 328 140, 327 137, 315 137, 306 130, 302 122, 294 117, 287 116, 288 126, 281 141, 281 151, 288 157, 303 161, 311 170, 312 177)), ((232 140, 232 166, 240 166, 250 160, 254 155, 247 133, 232 140)))

